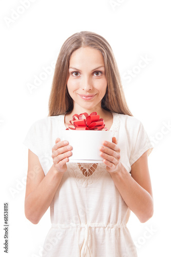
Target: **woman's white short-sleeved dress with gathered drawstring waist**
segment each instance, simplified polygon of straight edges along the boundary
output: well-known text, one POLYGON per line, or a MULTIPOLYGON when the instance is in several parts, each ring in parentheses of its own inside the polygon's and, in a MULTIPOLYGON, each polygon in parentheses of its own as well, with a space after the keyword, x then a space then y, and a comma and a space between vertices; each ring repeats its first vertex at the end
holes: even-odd
MULTIPOLYGON (((137 118, 113 114, 110 131, 118 140, 121 162, 131 165, 153 145, 137 118)), ((51 149, 65 130, 64 115, 46 117, 32 124, 24 144, 40 160, 45 175, 53 161, 51 149)), ((90 165, 91 166, 91 165, 90 165)), ((50 204, 52 226, 45 238, 43 257, 136 257, 126 226, 130 209, 125 204, 104 163, 85 176, 78 163, 67 162, 60 186, 50 204)))

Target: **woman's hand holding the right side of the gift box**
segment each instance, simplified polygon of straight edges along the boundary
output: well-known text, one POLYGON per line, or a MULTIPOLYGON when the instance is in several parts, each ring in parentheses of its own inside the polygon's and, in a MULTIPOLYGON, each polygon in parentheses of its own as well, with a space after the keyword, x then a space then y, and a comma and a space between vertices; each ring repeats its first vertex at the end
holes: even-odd
POLYGON ((115 173, 121 169, 120 148, 117 145, 116 137, 112 137, 112 142, 104 141, 100 151, 100 156, 104 158, 103 162, 106 164, 106 170, 109 173, 115 173))

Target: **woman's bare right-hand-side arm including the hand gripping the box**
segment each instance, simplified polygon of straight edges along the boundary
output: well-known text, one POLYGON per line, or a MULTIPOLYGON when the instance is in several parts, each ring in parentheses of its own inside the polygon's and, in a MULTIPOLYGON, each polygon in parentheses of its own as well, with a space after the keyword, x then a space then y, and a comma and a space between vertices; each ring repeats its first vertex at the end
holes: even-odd
MULTIPOLYGON (((131 166, 131 176, 120 162, 120 149, 116 138, 107 142, 105 148, 106 169, 119 190, 122 198, 140 222, 144 223, 153 216, 153 194, 148 171, 147 151, 131 166), (115 143, 114 143, 115 142, 115 143)), ((101 150, 102 151, 102 150, 101 150)))

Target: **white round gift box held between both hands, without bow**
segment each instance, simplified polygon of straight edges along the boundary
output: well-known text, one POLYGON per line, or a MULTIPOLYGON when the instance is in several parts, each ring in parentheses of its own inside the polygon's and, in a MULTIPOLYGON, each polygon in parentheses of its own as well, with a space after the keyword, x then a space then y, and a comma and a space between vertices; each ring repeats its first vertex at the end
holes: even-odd
POLYGON ((62 130, 61 141, 67 140, 72 146, 69 162, 102 163, 100 147, 103 141, 112 142, 112 131, 62 130))

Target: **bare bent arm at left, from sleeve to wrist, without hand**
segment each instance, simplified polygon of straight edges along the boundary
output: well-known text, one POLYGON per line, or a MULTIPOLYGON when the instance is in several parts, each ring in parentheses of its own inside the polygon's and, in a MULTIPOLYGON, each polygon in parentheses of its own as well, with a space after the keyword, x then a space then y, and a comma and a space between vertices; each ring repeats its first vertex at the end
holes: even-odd
POLYGON ((49 208, 62 177, 63 173, 56 172, 54 164, 45 176, 39 158, 29 150, 25 215, 33 224, 39 223, 49 208))

